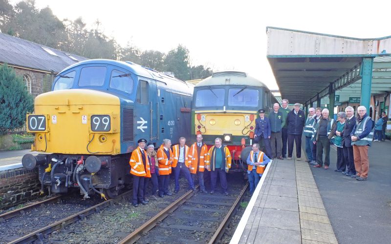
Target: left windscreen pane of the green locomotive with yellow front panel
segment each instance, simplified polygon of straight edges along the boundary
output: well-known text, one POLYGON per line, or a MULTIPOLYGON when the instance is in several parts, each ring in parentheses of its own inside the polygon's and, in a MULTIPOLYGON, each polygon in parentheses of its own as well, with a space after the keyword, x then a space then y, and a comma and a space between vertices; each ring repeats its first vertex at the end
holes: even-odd
POLYGON ((198 90, 195 97, 196 107, 215 107, 224 105, 225 90, 217 89, 202 89, 198 90))

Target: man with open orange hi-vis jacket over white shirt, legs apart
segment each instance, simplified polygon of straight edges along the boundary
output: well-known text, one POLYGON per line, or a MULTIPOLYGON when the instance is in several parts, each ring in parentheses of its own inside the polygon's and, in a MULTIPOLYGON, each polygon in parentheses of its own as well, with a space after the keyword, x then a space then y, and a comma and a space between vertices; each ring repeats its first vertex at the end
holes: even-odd
POLYGON ((195 190, 192 176, 189 171, 189 146, 186 144, 186 138, 179 138, 179 144, 173 146, 174 154, 174 163, 172 165, 175 174, 175 193, 179 191, 179 175, 182 174, 185 176, 187 182, 189 183, 189 189, 195 190))

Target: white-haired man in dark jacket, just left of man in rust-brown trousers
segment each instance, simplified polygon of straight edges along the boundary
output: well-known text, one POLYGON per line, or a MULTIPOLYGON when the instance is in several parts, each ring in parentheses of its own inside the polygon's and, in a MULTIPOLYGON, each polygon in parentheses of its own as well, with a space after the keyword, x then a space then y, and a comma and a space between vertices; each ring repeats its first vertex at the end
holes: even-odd
POLYGON ((344 130, 341 132, 341 137, 344 155, 348 160, 346 161, 346 170, 343 171, 342 174, 346 176, 355 176, 356 168, 354 167, 353 146, 351 145, 350 133, 356 124, 356 117, 354 116, 354 109, 351 106, 345 108, 345 113, 347 118, 344 130))

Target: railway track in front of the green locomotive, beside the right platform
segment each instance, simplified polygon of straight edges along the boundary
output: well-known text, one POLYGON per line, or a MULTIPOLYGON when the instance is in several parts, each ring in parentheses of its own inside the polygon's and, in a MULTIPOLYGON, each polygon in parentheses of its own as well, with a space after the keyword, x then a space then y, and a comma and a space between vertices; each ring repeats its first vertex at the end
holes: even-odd
MULTIPOLYGON (((195 232, 209 233, 208 243, 216 243, 221 239, 231 217, 239 207, 240 200, 243 198, 247 187, 248 183, 243 187, 237 198, 222 195, 195 195, 193 191, 188 191, 181 198, 121 240, 119 244, 132 244, 137 241, 140 241, 140 243, 153 243, 157 240, 148 239, 148 233, 152 230, 159 232, 156 229, 160 228, 178 230, 176 231, 177 234, 182 231, 177 236, 171 234, 167 240, 169 243, 205 242, 205 240, 199 239, 183 239, 183 235, 185 235, 183 231, 190 231, 193 236, 195 236, 195 232), (176 220, 181 220, 183 223, 175 224, 177 222, 176 220), (212 233, 213 235, 211 235, 212 233)), ((161 236, 159 236, 159 240, 160 242, 165 241, 161 239, 161 236)))

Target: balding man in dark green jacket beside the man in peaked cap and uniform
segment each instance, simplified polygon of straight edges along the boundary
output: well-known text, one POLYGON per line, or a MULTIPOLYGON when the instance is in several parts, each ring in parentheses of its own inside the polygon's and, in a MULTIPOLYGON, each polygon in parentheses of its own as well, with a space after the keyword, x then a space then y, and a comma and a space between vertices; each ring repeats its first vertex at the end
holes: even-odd
POLYGON ((273 104, 273 112, 269 114, 271 137, 270 144, 272 147, 272 159, 283 159, 282 158, 282 127, 285 125, 285 118, 282 112, 279 111, 280 104, 277 102, 273 104))

